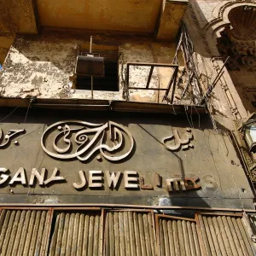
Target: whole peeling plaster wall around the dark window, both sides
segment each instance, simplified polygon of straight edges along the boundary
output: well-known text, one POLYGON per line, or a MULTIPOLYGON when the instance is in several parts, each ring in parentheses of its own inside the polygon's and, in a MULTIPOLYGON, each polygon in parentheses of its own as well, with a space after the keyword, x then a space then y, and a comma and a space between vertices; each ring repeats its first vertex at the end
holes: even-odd
MULTIPOLYGON (((43 32, 40 36, 17 37, 9 50, 0 73, 2 96, 41 98, 90 98, 90 90, 71 90, 77 56, 77 45, 89 43, 89 34, 68 35, 63 32, 43 32)), ((119 45, 119 91, 94 91, 94 98, 124 100, 123 77, 125 63, 171 63, 176 45, 156 43, 147 37, 95 35, 96 44, 119 45), (122 64, 123 63, 123 64, 122 64), (123 68, 123 69, 122 69, 123 68)), ((130 85, 145 87, 149 67, 131 67, 130 85)), ((170 68, 155 68, 150 87, 166 88, 172 75, 170 68)), ((1 90, 0 90, 1 91, 1 90)), ((160 95, 160 96, 163 96, 160 95)), ((156 91, 131 90, 130 100, 157 102, 156 91)))

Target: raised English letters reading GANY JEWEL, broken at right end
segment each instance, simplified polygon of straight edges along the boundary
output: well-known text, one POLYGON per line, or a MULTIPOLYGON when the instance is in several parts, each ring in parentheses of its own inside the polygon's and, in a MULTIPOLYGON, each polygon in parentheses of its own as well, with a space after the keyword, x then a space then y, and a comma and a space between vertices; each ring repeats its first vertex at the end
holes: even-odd
MULTIPOLYGON (((122 182, 125 189, 143 189, 152 190, 154 188, 166 188, 168 191, 185 191, 191 189, 201 189, 198 177, 173 177, 167 178, 163 183, 163 178, 157 173, 154 173, 154 183, 145 184, 144 177, 139 177, 136 171, 122 172, 109 172, 109 171, 89 171, 86 173, 83 171, 77 172, 79 181, 73 182, 75 189, 84 188, 104 188, 104 180, 107 182, 108 188, 117 188, 117 184, 122 182), (104 178, 105 177, 105 178, 104 178)), ((66 181, 65 177, 61 176, 61 172, 55 167, 50 177, 46 177, 46 169, 42 168, 41 172, 38 172, 36 168, 32 169, 31 176, 26 178, 26 170, 20 167, 13 176, 9 174, 9 170, 4 167, 0 167, 0 185, 9 183, 9 185, 22 184, 24 186, 34 186, 38 183, 39 186, 51 185, 53 183, 66 181)))

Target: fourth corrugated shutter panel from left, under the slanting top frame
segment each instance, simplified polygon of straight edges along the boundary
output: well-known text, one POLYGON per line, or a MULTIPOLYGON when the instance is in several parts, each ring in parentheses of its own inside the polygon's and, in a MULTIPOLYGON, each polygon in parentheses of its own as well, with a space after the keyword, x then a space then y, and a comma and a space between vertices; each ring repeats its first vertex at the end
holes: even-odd
POLYGON ((194 219, 156 215, 156 225, 161 256, 201 255, 194 219))

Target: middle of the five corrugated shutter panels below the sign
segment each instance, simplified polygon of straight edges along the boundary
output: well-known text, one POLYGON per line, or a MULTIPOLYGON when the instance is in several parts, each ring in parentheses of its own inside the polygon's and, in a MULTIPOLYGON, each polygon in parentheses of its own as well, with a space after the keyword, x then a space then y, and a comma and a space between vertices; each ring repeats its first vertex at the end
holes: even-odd
POLYGON ((107 212, 106 255, 156 255, 153 212, 107 212))

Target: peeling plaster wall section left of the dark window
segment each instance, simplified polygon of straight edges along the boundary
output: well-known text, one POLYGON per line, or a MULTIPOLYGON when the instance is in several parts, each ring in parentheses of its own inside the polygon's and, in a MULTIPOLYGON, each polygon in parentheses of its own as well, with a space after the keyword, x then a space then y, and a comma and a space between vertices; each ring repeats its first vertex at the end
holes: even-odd
POLYGON ((73 44, 17 38, 3 66, 3 96, 58 97, 73 72, 74 53, 73 44))

